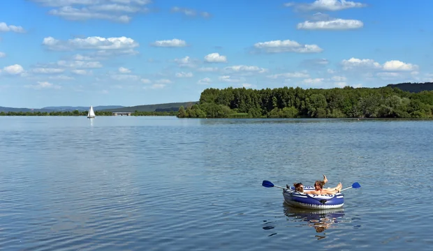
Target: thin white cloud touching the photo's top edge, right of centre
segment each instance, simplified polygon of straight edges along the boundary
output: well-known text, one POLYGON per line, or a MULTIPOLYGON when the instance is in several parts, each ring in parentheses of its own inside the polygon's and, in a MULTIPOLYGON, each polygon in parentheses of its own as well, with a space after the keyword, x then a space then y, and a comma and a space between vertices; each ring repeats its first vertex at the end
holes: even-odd
POLYGON ((357 3, 354 1, 346 0, 316 0, 313 3, 286 3, 286 7, 294 7, 296 10, 328 10, 338 11, 345 10, 348 8, 363 8, 367 5, 364 3, 357 3))

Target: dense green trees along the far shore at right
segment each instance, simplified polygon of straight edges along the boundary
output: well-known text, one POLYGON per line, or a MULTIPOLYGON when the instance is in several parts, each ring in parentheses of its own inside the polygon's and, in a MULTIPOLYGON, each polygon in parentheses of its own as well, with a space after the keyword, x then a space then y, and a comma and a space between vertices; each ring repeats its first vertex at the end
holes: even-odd
POLYGON ((433 91, 380 88, 205 89, 179 118, 432 118, 433 91))

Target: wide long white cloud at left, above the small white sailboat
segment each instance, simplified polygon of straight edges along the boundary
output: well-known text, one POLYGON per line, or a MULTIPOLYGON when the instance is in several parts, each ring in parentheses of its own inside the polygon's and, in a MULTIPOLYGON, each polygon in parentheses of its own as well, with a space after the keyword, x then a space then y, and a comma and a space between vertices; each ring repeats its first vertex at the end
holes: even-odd
POLYGON ((88 38, 73 38, 68 40, 57 40, 47 37, 42 44, 49 50, 131 50, 138 47, 138 43, 132 38, 124 36, 118 38, 102 38, 92 36, 88 38))

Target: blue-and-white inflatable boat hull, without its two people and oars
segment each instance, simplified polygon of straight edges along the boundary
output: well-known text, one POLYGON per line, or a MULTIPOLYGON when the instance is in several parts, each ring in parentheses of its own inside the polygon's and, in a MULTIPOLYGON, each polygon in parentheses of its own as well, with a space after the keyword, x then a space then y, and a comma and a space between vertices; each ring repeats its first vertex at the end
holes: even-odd
MULTIPOLYGON (((341 208, 344 205, 344 195, 339 192, 335 195, 308 195, 303 192, 283 190, 284 201, 291 206, 309 209, 341 208)), ((304 191, 314 190, 311 186, 304 186, 304 191)))

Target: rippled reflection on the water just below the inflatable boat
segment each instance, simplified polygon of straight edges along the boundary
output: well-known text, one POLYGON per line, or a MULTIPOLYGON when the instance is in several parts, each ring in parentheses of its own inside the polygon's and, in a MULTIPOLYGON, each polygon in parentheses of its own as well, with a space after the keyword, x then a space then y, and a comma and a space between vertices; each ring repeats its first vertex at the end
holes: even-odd
MULTIPOLYGON (((323 209, 323 210, 312 210, 295 208, 293 206, 288 206, 284 203, 284 214, 288 217, 288 220, 295 222, 307 222, 307 226, 314 227, 316 233, 321 235, 316 235, 317 239, 320 240, 325 238, 324 231, 339 222, 339 218, 344 217, 344 209, 323 209)), ((342 219, 340 219, 342 220, 342 219)))

